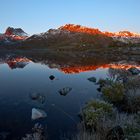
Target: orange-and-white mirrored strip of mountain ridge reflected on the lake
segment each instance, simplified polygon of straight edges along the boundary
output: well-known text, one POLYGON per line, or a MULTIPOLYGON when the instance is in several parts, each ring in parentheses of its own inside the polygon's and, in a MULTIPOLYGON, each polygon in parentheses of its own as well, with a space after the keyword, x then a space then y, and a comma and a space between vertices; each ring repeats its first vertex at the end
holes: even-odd
POLYGON ((71 65, 66 65, 66 64, 59 64, 59 63, 54 63, 54 62, 49 62, 47 60, 42 60, 42 61, 35 61, 34 60, 30 60, 29 58, 26 57, 11 57, 11 58, 5 58, 4 60, 1 60, 1 63, 7 63, 8 66, 11 69, 15 69, 15 68, 24 68, 27 64, 29 63, 40 63, 40 64, 45 64, 48 65, 49 68, 57 68, 58 70, 66 73, 66 74, 75 74, 75 73, 81 73, 81 72, 86 72, 86 71, 95 71, 97 69, 124 69, 124 70, 128 70, 132 67, 138 68, 140 69, 140 65, 139 63, 136 63, 134 61, 119 61, 119 62, 112 62, 112 63, 102 63, 102 64, 98 64, 96 62, 93 62, 95 64, 72 64, 71 65), (45 63, 44 63, 45 61, 45 63), (48 62, 48 64, 47 64, 48 62), (51 63, 51 64, 50 64, 51 63))

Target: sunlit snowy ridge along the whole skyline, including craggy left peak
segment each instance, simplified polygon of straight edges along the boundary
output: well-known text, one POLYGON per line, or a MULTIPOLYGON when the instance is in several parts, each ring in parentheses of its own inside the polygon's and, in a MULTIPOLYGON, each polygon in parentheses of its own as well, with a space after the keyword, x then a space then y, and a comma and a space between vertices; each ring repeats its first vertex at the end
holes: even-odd
MULTIPOLYGON (((75 33, 86 33, 90 35, 105 35, 108 37, 140 38, 139 33, 134 33, 130 31, 119 31, 119 32, 100 31, 99 29, 96 28, 90 28, 75 24, 66 24, 64 26, 59 27, 58 29, 50 29, 47 32, 34 34, 32 36, 44 37, 44 35, 48 35, 49 33, 51 35, 55 35, 57 33, 60 33, 60 31, 61 33, 62 31, 69 31, 75 33)), ((28 39, 28 37, 29 35, 26 32, 24 32, 21 28, 8 27, 5 33, 0 34, 0 41, 5 38, 10 38, 11 40, 26 40, 28 39)))

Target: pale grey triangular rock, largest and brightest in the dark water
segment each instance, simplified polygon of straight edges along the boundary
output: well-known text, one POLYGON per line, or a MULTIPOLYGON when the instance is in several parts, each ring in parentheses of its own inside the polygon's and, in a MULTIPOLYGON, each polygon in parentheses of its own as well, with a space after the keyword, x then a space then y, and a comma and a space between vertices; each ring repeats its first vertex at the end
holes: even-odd
POLYGON ((37 108, 33 108, 32 109, 32 120, 36 120, 39 118, 45 118, 47 117, 47 114, 45 111, 41 110, 41 109, 37 109, 37 108))

